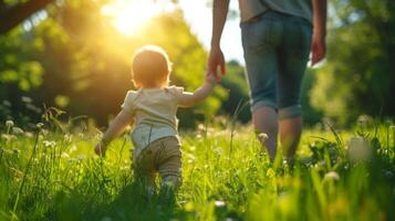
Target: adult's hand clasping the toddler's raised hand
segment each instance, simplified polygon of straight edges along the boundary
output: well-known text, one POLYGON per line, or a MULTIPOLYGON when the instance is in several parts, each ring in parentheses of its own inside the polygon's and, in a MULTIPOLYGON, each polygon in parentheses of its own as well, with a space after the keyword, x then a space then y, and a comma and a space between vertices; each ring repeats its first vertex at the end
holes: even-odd
POLYGON ((214 74, 217 82, 220 81, 221 75, 226 74, 225 59, 220 48, 211 48, 207 63, 208 74, 214 74))

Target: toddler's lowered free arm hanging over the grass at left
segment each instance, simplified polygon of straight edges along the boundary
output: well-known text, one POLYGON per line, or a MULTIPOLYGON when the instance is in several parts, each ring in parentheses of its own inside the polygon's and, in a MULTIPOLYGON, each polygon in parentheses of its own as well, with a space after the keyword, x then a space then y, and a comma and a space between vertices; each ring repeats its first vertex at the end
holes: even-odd
POLYGON ((122 109, 114 120, 110 124, 107 130, 104 133, 102 140, 96 145, 95 152, 102 156, 106 151, 107 145, 123 131, 127 125, 133 123, 134 115, 125 109, 122 109))

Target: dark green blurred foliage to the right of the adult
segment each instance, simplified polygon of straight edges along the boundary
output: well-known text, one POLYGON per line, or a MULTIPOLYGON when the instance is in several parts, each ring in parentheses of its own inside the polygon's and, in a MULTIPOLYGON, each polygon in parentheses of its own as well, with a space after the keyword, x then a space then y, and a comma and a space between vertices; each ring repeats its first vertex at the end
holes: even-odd
POLYGON ((336 0, 328 61, 318 71, 311 104, 350 124, 357 113, 394 116, 395 2, 336 0))

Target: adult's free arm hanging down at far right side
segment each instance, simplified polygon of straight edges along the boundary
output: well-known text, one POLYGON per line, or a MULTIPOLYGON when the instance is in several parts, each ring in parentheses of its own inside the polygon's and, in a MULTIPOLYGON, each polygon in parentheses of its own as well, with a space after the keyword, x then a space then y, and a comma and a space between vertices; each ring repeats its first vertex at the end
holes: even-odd
POLYGON ((313 3, 313 36, 311 65, 319 63, 325 57, 326 45, 326 0, 312 0, 313 3))

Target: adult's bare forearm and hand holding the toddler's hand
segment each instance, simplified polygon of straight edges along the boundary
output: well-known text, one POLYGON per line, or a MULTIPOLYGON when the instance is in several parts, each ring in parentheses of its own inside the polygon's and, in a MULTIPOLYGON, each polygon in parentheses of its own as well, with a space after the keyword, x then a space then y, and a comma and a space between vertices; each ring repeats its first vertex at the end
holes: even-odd
POLYGON ((212 34, 211 49, 208 57, 208 73, 214 74, 219 78, 218 67, 221 74, 226 73, 225 59, 220 48, 220 41, 225 22, 227 20, 229 0, 214 0, 212 2, 212 34))

